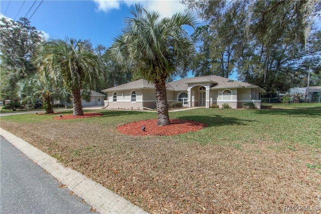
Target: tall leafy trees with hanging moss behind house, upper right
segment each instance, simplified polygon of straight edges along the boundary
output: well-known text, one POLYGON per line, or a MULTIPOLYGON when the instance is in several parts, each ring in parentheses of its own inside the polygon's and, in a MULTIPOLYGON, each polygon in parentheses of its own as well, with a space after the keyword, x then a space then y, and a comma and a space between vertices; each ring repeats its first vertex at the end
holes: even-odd
POLYGON ((193 75, 230 77, 260 86, 265 97, 321 84, 319 1, 181 1, 204 25, 192 35, 193 75))

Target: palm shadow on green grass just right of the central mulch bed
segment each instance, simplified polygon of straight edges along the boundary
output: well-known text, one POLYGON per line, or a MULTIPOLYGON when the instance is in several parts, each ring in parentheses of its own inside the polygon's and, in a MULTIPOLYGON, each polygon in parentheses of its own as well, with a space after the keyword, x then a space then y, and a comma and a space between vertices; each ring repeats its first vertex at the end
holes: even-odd
POLYGON ((182 120, 193 120, 207 124, 209 127, 225 126, 225 125, 247 125, 248 122, 255 122, 256 120, 243 120, 236 117, 222 117, 221 115, 189 115, 177 117, 182 120))

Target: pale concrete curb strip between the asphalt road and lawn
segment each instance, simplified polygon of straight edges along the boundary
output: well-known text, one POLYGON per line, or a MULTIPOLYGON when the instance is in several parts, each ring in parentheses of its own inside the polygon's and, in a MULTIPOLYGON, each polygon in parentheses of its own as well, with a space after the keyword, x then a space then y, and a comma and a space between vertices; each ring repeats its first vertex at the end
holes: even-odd
POLYGON ((76 170, 64 167, 57 159, 12 133, 0 128, 0 134, 100 213, 147 213, 76 170))

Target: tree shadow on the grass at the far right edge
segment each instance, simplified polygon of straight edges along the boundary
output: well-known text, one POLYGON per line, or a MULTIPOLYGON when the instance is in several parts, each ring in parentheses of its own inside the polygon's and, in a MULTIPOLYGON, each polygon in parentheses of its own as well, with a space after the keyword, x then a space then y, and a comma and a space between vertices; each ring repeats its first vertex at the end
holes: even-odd
POLYGON ((255 111, 260 115, 286 115, 286 116, 304 116, 304 117, 315 117, 321 116, 321 105, 320 107, 309 107, 309 108, 290 108, 290 109, 261 109, 255 111))

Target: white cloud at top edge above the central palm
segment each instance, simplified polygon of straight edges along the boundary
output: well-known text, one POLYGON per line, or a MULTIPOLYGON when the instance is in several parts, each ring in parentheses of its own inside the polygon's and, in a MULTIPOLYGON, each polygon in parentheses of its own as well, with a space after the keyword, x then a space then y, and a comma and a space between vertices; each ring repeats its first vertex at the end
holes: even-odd
POLYGON ((179 0, 156 0, 156 1, 143 1, 143 0, 119 0, 119 1, 106 1, 94 0, 98 7, 98 11, 109 12, 113 9, 119 10, 121 5, 128 7, 135 4, 140 4, 150 11, 158 11, 161 17, 171 17, 178 12, 184 12, 184 5, 179 0))

